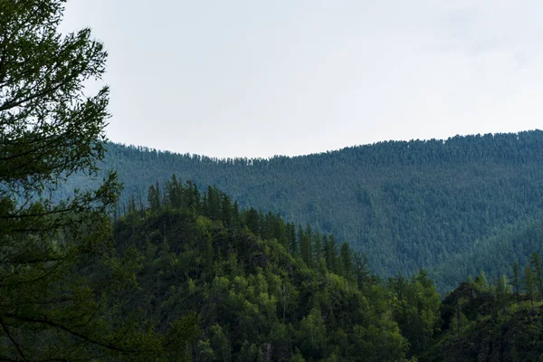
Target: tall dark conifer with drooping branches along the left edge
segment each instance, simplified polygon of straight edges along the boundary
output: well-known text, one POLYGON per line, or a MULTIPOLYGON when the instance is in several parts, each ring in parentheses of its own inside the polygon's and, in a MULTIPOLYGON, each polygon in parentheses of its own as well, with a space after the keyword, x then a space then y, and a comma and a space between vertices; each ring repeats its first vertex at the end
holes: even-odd
POLYGON ((195 317, 175 324, 168 345, 137 311, 116 314, 138 265, 111 253, 115 175, 60 203, 48 196, 95 174, 109 117, 108 89, 83 88, 107 53, 89 29, 57 33, 63 3, 0 1, 0 359, 148 360, 192 334, 195 317))

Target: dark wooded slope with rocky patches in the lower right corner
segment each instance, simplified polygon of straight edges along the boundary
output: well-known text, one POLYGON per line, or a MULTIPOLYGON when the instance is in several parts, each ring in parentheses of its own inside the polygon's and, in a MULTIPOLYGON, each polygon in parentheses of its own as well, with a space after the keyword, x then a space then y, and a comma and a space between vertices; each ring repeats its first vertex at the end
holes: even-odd
MULTIPOLYGON (((443 327, 420 361, 538 361, 543 352, 543 305, 537 298, 533 253, 525 268, 525 291, 511 290, 505 275, 496 285, 463 282, 443 300, 443 327)), ((513 265, 519 270, 519 264, 513 265)))

